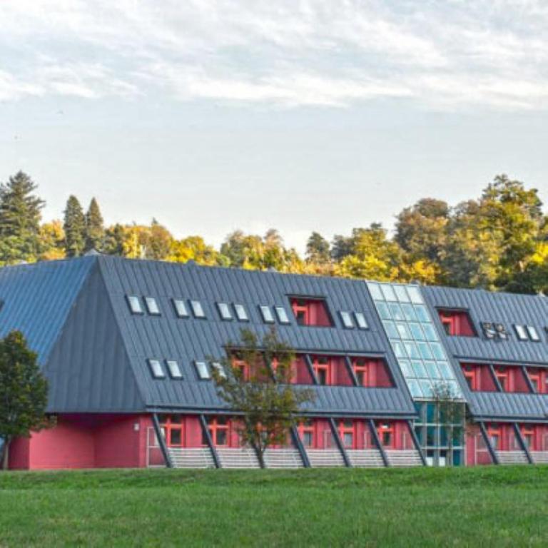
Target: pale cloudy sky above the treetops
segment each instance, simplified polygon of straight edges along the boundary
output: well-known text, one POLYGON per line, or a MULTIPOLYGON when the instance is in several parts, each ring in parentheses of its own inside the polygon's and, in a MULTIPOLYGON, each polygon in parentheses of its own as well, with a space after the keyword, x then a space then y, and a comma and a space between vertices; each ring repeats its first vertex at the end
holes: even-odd
POLYGON ((1 0, 0 181, 303 250, 496 173, 548 194, 548 2, 1 0))

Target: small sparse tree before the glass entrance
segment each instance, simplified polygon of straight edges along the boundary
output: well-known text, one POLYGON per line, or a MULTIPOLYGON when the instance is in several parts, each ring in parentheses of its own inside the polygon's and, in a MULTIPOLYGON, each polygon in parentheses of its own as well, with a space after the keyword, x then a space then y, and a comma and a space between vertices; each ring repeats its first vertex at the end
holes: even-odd
POLYGON ((443 433, 447 439, 446 462, 447 465, 452 466, 455 438, 460 440, 465 432, 465 402, 462 397, 455 394, 447 382, 438 382, 433 387, 432 395, 436 406, 437 422, 440 425, 440 435, 443 433))

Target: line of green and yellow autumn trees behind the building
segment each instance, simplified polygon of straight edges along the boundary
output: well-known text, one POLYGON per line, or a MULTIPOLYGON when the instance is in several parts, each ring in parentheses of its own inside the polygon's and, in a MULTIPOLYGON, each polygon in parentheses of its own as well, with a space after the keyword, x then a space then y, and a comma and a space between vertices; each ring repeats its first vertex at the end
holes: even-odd
POLYGON ((390 236, 380 223, 331 240, 313 232, 305 256, 275 229, 235 230, 220 248, 199 235, 174 238, 156 219, 105 226, 95 198, 84 211, 69 196, 62 220, 43 223, 45 202, 19 171, 0 185, 0 264, 78 257, 90 250, 127 258, 518 293, 548 288, 548 218, 537 189, 499 175, 479 198, 451 206, 422 198, 396 215, 390 236))

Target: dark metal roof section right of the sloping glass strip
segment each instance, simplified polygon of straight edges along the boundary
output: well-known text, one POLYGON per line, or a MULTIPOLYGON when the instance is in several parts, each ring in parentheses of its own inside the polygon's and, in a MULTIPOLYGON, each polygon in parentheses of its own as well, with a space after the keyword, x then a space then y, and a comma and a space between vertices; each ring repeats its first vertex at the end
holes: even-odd
POLYGON ((492 420, 546 419, 546 396, 472 392, 462 375, 460 362, 514 363, 548 367, 548 341, 544 331, 544 327, 548 325, 548 298, 542 295, 442 287, 424 287, 422 293, 433 315, 436 308, 465 309, 474 324, 477 337, 450 337, 445 335, 438 322, 444 345, 452 356, 453 367, 470 404, 472 415, 492 420), (481 328, 482 322, 502 323, 509 333, 509 339, 485 338, 481 328), (541 340, 518 340, 514 324, 534 326, 541 340))

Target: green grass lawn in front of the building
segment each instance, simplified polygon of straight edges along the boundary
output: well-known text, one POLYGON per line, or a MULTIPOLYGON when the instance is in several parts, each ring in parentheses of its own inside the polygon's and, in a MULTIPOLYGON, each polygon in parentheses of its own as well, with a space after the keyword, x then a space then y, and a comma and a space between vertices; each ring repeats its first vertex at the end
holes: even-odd
POLYGON ((0 472, 0 547, 548 546, 548 467, 0 472))

